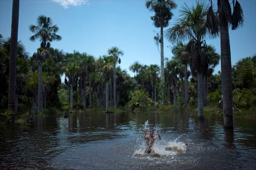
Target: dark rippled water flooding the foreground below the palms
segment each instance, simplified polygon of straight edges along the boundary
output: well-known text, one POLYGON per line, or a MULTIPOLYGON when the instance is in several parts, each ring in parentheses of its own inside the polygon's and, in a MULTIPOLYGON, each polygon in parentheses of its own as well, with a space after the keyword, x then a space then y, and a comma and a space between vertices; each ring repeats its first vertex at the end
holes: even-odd
POLYGON ((222 122, 188 113, 40 117, 34 127, 0 127, 0 169, 255 170, 256 119, 234 119, 234 130, 222 122), (161 135, 152 153, 145 153, 144 128, 161 135))

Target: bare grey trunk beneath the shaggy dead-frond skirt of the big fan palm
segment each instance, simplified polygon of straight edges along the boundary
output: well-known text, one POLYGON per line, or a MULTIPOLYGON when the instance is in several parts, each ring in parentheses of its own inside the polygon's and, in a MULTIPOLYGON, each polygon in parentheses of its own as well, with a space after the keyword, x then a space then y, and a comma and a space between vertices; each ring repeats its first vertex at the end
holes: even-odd
POLYGON ((197 73, 197 100, 198 120, 204 120, 204 87, 201 73, 197 73))

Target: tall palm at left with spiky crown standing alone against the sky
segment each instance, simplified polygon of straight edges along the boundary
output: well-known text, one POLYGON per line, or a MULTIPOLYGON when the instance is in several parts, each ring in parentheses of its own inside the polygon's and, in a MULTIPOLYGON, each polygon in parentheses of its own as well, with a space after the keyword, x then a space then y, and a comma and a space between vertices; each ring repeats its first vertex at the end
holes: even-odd
MULTIPOLYGON (((35 33, 29 38, 29 40, 35 41, 36 39, 40 39, 40 47, 43 48, 43 50, 49 50, 51 45, 50 42, 52 42, 53 40, 61 40, 61 37, 56 34, 56 32, 59 30, 58 26, 52 25, 52 19, 44 15, 38 16, 37 25, 30 25, 29 30, 35 33)), ((38 113, 41 113, 41 111, 43 110, 41 67, 42 62, 42 60, 38 59, 38 113)))

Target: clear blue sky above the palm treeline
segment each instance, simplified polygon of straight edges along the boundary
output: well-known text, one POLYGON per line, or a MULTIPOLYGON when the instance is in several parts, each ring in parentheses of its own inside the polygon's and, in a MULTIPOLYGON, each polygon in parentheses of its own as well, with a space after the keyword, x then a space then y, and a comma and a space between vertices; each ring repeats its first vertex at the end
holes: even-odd
MULTIPOLYGON (((208 0, 205 0, 208 3, 208 0)), ((169 27, 179 17, 181 5, 195 4, 196 0, 175 0, 178 8, 169 27)), ((244 26, 230 30, 231 60, 234 65, 239 59, 256 54, 256 0, 239 0, 244 10, 244 26)), ((216 4, 216 1, 214 0, 216 4)), ((39 15, 51 17, 60 28, 61 41, 52 42, 53 48, 65 52, 74 50, 99 57, 112 46, 124 51, 121 68, 130 75, 129 65, 134 61, 141 64, 160 65, 160 52, 153 40, 160 28, 155 28, 150 16, 154 13, 145 7, 145 0, 20 0, 18 40, 21 40, 31 55, 40 45, 31 42, 33 35, 29 25, 36 25, 39 15), (58 1, 58 2, 56 2, 58 1)), ((12 0, 0 0, 0 34, 11 35, 12 0)), ((168 27, 168 28, 169 28, 168 27)), ((167 28, 164 28, 166 30, 167 28)), ((220 39, 206 40, 220 54, 220 39)), ((164 57, 171 58, 170 42, 164 40, 164 57)), ((220 70, 220 65, 215 73, 220 70)))

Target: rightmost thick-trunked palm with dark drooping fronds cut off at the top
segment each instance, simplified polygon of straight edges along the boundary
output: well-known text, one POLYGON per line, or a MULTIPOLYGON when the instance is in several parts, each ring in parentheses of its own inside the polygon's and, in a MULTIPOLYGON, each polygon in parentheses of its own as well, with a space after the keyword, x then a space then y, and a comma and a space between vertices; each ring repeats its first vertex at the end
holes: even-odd
POLYGON ((232 0, 233 13, 228 0, 218 0, 218 16, 213 12, 213 3, 207 13, 207 25, 212 34, 216 34, 220 29, 221 36, 221 87, 223 96, 223 116, 224 127, 233 128, 233 102, 232 102, 232 68, 230 54, 230 40, 228 26, 231 23, 232 30, 243 26, 244 16, 240 3, 232 0))

